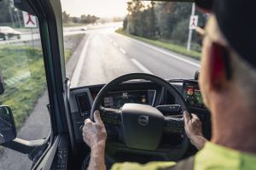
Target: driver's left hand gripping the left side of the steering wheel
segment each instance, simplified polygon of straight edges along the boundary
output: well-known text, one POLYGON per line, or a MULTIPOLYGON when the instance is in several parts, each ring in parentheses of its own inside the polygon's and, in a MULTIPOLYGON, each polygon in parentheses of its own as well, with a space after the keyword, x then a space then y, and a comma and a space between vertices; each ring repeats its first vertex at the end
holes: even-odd
POLYGON ((95 122, 86 119, 83 127, 83 139, 90 149, 105 147, 107 139, 107 132, 99 111, 94 112, 94 120, 95 122))

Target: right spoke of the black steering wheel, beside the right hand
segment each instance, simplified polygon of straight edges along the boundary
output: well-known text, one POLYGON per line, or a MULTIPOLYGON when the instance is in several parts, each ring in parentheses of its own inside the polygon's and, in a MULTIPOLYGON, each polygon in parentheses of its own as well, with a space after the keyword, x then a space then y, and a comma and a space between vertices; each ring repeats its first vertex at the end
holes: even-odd
POLYGON ((184 133, 183 116, 166 116, 165 117, 165 132, 167 133, 184 133))

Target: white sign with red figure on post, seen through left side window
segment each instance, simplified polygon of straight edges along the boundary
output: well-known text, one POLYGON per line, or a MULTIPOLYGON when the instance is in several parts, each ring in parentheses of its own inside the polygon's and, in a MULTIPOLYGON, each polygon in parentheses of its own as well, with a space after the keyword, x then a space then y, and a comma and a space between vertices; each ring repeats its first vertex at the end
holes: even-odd
POLYGON ((25 11, 23 11, 22 14, 23 14, 24 26, 26 28, 30 28, 31 36, 32 36, 32 46, 34 48, 35 44, 34 44, 34 35, 33 35, 32 29, 38 27, 37 18, 25 11))

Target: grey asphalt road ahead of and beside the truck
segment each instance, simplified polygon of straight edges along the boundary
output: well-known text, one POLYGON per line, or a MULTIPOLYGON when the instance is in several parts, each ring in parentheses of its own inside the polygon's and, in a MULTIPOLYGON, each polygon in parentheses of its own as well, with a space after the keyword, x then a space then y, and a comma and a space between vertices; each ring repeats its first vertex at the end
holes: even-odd
MULTIPOLYGON (((67 63, 72 87, 109 82, 131 72, 145 72, 163 78, 193 78, 200 68, 198 60, 119 35, 114 32, 116 28, 113 25, 97 26, 85 31, 86 37, 67 63)), ((64 34, 79 31, 80 28, 65 30, 64 34)), ((42 139, 47 136, 50 127, 46 102, 47 93, 38 99, 18 137, 42 139)), ((32 161, 26 155, 13 150, 0 156, 0 170, 24 170, 31 165, 32 161)))

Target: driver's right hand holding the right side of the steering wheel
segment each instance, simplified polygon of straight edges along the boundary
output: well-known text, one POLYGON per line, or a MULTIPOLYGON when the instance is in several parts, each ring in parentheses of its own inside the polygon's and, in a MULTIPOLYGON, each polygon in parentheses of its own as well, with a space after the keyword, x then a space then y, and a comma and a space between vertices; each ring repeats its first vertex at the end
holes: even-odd
POLYGON ((191 144, 195 145, 198 150, 201 150, 207 139, 203 137, 201 120, 195 114, 191 114, 190 117, 188 111, 184 111, 184 125, 187 136, 191 144))

